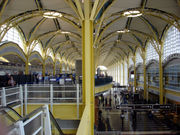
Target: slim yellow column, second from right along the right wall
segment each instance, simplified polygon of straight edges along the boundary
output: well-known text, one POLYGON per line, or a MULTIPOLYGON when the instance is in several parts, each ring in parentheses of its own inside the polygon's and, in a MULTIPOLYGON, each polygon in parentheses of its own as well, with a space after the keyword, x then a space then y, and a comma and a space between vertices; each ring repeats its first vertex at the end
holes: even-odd
POLYGON ((148 100, 147 81, 146 81, 146 58, 143 57, 143 75, 144 75, 144 99, 148 100))

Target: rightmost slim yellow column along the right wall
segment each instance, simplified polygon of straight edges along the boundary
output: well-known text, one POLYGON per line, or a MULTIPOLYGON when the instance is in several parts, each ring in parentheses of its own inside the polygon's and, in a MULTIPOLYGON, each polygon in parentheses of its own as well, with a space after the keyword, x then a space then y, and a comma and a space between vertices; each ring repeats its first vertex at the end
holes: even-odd
POLYGON ((164 90, 163 90, 163 67, 162 67, 162 55, 159 55, 159 102, 164 104, 163 101, 164 90))

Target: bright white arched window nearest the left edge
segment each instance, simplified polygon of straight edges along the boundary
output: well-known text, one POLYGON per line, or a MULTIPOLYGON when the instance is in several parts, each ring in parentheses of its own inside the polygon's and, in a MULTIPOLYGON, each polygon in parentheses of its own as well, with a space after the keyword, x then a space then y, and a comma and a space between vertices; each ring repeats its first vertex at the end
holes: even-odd
POLYGON ((21 40, 21 36, 16 28, 11 28, 4 36, 2 41, 12 41, 16 44, 18 44, 23 50, 24 45, 23 41, 21 40))

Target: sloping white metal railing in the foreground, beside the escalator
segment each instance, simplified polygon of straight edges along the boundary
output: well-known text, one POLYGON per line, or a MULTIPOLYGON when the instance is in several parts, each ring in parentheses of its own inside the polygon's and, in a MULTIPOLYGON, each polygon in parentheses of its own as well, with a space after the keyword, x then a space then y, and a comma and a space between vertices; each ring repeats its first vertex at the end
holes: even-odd
POLYGON ((48 105, 45 105, 11 125, 8 135, 63 135, 60 127, 54 122, 54 118, 50 117, 48 105))

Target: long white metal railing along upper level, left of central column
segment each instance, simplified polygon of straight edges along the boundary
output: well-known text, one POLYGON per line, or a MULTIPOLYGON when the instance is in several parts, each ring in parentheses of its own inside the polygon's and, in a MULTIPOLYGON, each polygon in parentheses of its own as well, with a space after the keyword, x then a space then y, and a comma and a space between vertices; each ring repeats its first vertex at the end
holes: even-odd
POLYGON ((0 106, 20 105, 21 115, 23 115, 23 106, 25 107, 25 114, 27 113, 28 104, 50 104, 52 111, 53 104, 76 103, 77 110, 79 110, 81 101, 82 88, 79 84, 76 86, 25 84, 13 88, 3 87, 0 90, 0 106))

